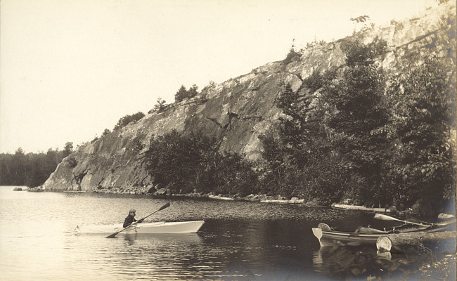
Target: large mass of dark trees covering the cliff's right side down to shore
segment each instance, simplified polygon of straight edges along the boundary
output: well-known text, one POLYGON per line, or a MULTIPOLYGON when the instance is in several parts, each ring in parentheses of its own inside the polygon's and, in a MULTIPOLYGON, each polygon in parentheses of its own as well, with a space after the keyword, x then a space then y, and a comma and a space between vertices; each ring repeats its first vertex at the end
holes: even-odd
POLYGON ((285 85, 276 103, 285 117, 262 136, 270 192, 425 209, 453 197, 451 67, 422 53, 420 65, 387 77, 375 63, 385 47, 346 41, 344 67, 314 72, 307 91, 285 85))

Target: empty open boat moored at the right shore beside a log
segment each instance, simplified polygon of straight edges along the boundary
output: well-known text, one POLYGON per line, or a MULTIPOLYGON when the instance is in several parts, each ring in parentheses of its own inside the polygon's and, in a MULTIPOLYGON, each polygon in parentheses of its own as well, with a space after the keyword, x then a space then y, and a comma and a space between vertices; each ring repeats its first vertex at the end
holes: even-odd
POLYGON ((314 236, 319 240, 321 247, 326 246, 359 246, 361 244, 376 244, 378 238, 383 235, 395 233, 435 233, 439 231, 456 230, 456 220, 444 223, 436 223, 432 226, 412 226, 409 228, 397 228, 395 231, 372 230, 373 232, 342 232, 330 230, 323 223, 317 228, 312 228, 314 236))

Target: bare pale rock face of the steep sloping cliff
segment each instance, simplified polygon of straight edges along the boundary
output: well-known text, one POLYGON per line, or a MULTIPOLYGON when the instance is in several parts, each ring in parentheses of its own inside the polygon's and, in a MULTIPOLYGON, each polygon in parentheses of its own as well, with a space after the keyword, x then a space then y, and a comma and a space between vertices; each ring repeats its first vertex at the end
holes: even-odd
MULTIPOLYGON (((392 21, 388 27, 359 32, 354 37, 365 43, 375 37, 387 41, 387 54, 379 63, 390 73, 413 64, 411 54, 425 49, 436 49, 437 56, 449 58, 449 63, 455 65, 455 31, 453 35, 446 34, 451 25, 449 19, 455 20, 455 13, 456 3, 449 1, 430 9, 421 18, 392 21), (442 38, 453 41, 449 44, 451 47, 437 46, 438 39, 442 38)), ((302 94, 307 94, 307 89, 302 87, 303 79, 314 70, 323 72, 329 67, 344 65, 345 57, 340 48, 344 40, 308 48, 301 58, 287 65, 267 63, 248 74, 207 86, 195 98, 168 105, 164 112, 146 115, 97 141, 85 143, 63 159, 43 188, 151 192, 152 179, 144 167, 144 152, 152 136, 172 129, 184 133, 202 130, 220 140, 220 150, 242 152, 250 159, 260 159, 262 145, 258 136, 281 116, 275 106, 278 93, 290 83, 293 91, 300 89, 302 94), (203 102, 202 96, 206 96, 207 101, 203 102)))

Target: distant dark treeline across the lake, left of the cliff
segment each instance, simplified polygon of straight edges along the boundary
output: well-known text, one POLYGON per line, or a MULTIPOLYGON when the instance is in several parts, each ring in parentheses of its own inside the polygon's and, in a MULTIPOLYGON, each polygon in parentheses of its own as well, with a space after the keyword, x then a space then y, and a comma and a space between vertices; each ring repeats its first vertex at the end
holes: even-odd
POLYGON ((49 148, 46 153, 25 154, 18 148, 14 154, 1 153, 0 185, 27 185, 30 188, 42 185, 72 149, 73 143, 68 142, 61 151, 49 148))

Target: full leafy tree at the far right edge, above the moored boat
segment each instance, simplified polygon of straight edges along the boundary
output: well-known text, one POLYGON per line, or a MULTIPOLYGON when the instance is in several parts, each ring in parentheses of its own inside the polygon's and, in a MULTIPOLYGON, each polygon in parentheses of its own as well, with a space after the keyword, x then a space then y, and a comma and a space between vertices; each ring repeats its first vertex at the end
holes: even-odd
MULTIPOLYGON (((422 202, 427 209, 453 197, 455 84, 437 58, 406 72, 392 84, 395 141, 390 190, 399 203, 422 202), (427 200, 423 196, 427 195, 427 200)), ((436 209, 436 208, 435 208, 436 209)))

